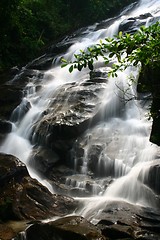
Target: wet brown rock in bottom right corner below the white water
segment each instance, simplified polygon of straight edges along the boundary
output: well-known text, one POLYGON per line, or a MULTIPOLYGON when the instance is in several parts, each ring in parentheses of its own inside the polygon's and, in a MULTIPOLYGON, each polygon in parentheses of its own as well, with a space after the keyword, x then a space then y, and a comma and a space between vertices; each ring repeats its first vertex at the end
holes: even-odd
POLYGON ((159 239, 160 212, 125 202, 106 204, 99 214, 99 227, 110 239, 159 239))

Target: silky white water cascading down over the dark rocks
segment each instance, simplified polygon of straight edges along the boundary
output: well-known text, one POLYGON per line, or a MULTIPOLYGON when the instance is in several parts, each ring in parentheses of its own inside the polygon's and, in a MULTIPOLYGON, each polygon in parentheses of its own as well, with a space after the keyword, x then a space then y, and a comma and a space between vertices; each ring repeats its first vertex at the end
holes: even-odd
MULTIPOLYGON (((160 0, 140 1, 136 9, 129 13, 127 13, 127 11, 124 12, 124 14, 120 15, 108 28, 96 30, 96 25, 90 27, 82 36, 75 39, 75 43, 68 49, 64 57, 66 59, 73 59, 74 54, 79 52, 79 49, 85 49, 97 43, 99 39, 107 36, 112 37, 116 34, 122 20, 148 12, 154 16, 158 16, 158 14, 160 14, 160 0)), ((148 24, 148 22, 146 24, 148 24)), ((31 103, 31 109, 22 119, 20 117, 17 118, 17 121, 13 124, 13 131, 8 134, 0 147, 1 152, 17 156, 26 165, 28 164, 28 157, 33 147, 28 140, 32 126, 39 115, 47 108, 57 87, 65 84, 67 81, 74 82, 78 79, 85 79, 89 74, 88 70, 82 72, 74 71, 70 74, 67 68, 60 67, 58 63, 60 57, 57 57, 55 66, 53 65, 52 69, 46 71, 44 78, 41 80, 43 87, 40 91, 35 91, 36 85, 38 86, 40 84, 36 82, 36 77, 31 79, 31 83, 26 87, 28 91, 27 96, 23 100, 22 106, 19 106, 19 109, 13 113, 13 119, 14 114, 16 114, 17 111, 19 112, 21 107, 23 108, 23 104, 25 104, 26 101, 31 103)), ((101 69, 105 71, 102 62, 97 64, 97 67, 98 66, 101 66, 101 69)), ((113 165, 114 160, 113 175, 116 178, 114 183, 98 196, 79 199, 84 203, 84 208, 79 211, 79 214, 90 219, 96 218, 96 215, 98 215, 104 205, 113 200, 123 200, 149 207, 156 207, 157 204, 156 197, 152 190, 138 180, 139 174, 149 168, 157 151, 157 147, 149 142, 151 122, 149 122, 146 117, 148 110, 143 108, 138 101, 132 100, 125 104, 123 118, 117 117, 116 115, 117 108, 119 108, 120 104, 119 96, 125 98, 125 101, 127 101, 136 94, 135 86, 131 86, 128 89, 128 76, 131 71, 133 77, 136 79, 137 70, 135 69, 127 69, 126 72, 120 73, 118 78, 110 79, 102 102, 102 105, 104 105, 102 116, 107 116, 107 120, 102 124, 98 124, 92 131, 89 130, 84 136, 84 138, 88 138, 88 144, 85 146, 82 173, 85 174, 87 172, 86 163, 90 147, 95 142, 100 141, 104 145, 104 157, 99 159, 99 166, 103 164, 107 172, 108 167, 110 167, 110 164, 113 165), (119 87, 117 87, 117 85, 119 87), (123 92, 126 92, 124 96, 122 96, 123 92, 121 88, 123 92), (95 211, 93 211, 93 209, 95 211)), ((32 177, 38 178, 39 181, 47 185, 50 191, 52 191, 51 186, 35 175, 33 169, 29 168, 29 172, 32 177)), ((68 180, 68 182, 71 181, 68 180)), ((84 182, 82 181, 77 187, 81 187, 83 184, 84 182)), ((103 181, 101 184, 103 184, 103 181)), ((96 189, 95 193, 97 193, 96 189)))

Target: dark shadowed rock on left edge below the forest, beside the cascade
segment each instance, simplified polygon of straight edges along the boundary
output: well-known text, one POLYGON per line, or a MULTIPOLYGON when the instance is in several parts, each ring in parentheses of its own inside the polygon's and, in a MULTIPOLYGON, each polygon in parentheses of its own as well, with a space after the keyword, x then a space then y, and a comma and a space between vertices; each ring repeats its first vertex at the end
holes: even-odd
MULTIPOLYGON (((25 88, 29 82, 36 82, 36 90, 40 89, 43 72, 31 69, 21 69, 17 75, 8 79, 3 85, 0 86, 0 118, 9 120, 11 114, 16 111, 16 108, 23 107, 23 111, 26 113, 27 109, 31 107, 31 104, 27 101, 21 103, 22 98, 25 96, 28 88, 25 88), (25 105, 25 106, 24 106, 25 105)), ((21 114, 23 117, 23 114, 21 114)))

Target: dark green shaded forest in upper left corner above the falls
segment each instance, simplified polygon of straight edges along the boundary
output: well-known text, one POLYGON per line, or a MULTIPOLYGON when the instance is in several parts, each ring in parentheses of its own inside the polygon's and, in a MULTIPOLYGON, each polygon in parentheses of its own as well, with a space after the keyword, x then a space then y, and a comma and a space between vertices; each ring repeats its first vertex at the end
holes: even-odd
POLYGON ((1 0, 0 70, 24 65, 58 38, 113 16, 134 1, 1 0))

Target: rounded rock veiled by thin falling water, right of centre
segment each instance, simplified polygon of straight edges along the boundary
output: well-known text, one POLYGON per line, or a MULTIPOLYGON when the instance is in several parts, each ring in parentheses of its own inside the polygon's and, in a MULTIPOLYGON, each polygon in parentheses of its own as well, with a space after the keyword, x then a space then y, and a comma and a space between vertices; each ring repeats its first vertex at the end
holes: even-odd
MULTIPOLYGON (((107 128, 99 125, 90 130, 89 133, 86 132, 83 138, 78 138, 73 146, 74 158, 76 159, 74 168, 80 173, 83 171, 88 175, 91 173, 94 177, 117 178, 123 176, 130 169, 130 166, 127 162, 117 159, 124 144, 124 139, 121 137, 121 127, 121 123, 113 119, 107 128)), ((135 159, 136 156, 137 153, 134 156, 135 159)))

